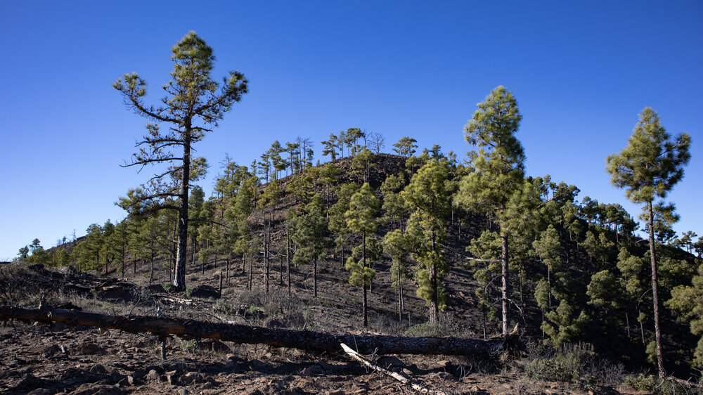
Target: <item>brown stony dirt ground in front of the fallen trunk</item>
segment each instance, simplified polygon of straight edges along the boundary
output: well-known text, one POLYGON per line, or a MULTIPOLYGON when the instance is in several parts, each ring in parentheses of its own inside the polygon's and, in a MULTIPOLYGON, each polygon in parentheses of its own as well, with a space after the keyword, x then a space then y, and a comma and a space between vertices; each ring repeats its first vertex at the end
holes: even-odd
MULTIPOLYGON (((408 394, 344 354, 14 323, 0 329, 4 394, 408 394)), ((453 359, 385 356, 376 363, 444 394, 588 394, 512 373, 472 374, 453 359)), ((470 367, 469 367, 470 368, 470 367)), ((605 393, 605 392, 601 392, 605 393)), ((593 394, 593 391, 591 391, 593 394)))

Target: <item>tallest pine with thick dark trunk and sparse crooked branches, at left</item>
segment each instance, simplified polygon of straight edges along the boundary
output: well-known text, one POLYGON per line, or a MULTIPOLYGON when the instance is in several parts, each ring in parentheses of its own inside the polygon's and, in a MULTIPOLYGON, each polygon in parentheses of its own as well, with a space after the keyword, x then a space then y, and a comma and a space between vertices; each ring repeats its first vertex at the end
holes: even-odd
POLYGON ((169 163, 171 166, 150 181, 150 188, 141 200, 173 197, 179 199, 178 242, 173 285, 186 290, 186 250, 188 246, 188 192, 191 187, 191 150, 202 140, 208 127, 217 127, 217 121, 232 105, 247 93, 247 80, 240 72, 230 72, 221 91, 210 77, 214 66, 212 48, 189 32, 173 48, 174 70, 164 89, 167 96, 162 106, 146 105, 146 82, 136 73, 124 75, 112 86, 122 93, 127 107, 138 115, 155 122, 170 124, 169 131, 160 131, 159 124, 148 124, 138 153, 127 166, 144 167, 147 164, 169 163), (174 153, 172 148, 182 148, 174 153), (169 180, 170 179, 170 180, 169 180))

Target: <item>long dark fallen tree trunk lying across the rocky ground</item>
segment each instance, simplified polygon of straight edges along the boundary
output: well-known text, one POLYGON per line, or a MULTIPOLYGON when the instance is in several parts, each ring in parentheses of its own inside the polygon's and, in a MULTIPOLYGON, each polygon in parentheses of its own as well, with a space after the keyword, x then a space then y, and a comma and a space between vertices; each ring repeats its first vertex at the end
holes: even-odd
POLYGON ((504 349, 511 337, 495 339, 460 339, 457 337, 408 337, 392 335, 337 335, 309 330, 260 328, 232 323, 210 323, 183 318, 152 316, 108 316, 99 313, 64 309, 21 309, 0 306, 0 320, 30 320, 86 325, 103 330, 150 332, 190 339, 219 339, 245 344, 268 344, 310 351, 339 352, 339 344, 349 344, 361 354, 419 354, 493 356, 504 349))

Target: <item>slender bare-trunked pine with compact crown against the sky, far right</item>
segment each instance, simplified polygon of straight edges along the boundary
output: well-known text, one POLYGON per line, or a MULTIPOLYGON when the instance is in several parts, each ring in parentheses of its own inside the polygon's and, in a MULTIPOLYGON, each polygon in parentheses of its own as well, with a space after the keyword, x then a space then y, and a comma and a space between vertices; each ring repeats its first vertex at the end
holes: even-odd
POLYGON ((619 153, 608 155, 607 171, 612 183, 625 189, 626 197, 635 203, 644 203, 650 242, 652 266, 652 303, 654 305, 654 337, 657 347, 659 377, 664 377, 662 330, 659 328, 659 286, 657 283, 657 255, 654 249, 654 207, 657 197, 664 198, 683 178, 683 167, 690 160, 690 136, 676 138, 666 133, 659 115, 651 108, 640 112, 640 121, 628 138, 628 145, 619 153))

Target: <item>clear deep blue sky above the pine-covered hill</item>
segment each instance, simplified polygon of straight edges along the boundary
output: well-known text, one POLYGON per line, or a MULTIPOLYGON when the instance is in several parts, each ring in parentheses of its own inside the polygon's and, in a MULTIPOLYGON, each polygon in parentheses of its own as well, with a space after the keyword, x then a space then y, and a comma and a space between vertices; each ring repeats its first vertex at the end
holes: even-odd
POLYGON ((618 202, 605 157, 645 107, 692 160, 670 200, 678 231, 703 235, 701 1, 2 1, 0 259, 39 238, 124 217, 117 197, 150 175, 119 167, 146 119, 111 84, 138 72, 157 103, 170 48, 195 30, 214 75, 245 73, 250 93, 195 148, 249 164, 296 136, 349 127, 402 136, 460 158, 463 127, 498 85, 517 98, 527 173, 618 202))

